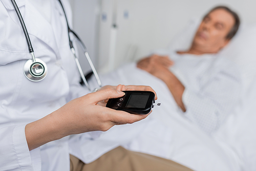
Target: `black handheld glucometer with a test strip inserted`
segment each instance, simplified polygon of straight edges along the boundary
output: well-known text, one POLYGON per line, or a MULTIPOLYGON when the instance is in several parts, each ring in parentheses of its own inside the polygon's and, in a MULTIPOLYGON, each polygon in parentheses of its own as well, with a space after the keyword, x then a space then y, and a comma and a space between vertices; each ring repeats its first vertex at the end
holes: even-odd
MULTIPOLYGON (((146 115, 154 108, 155 94, 150 91, 123 91, 124 96, 109 99, 106 107, 132 114, 146 115)), ((158 103, 157 105, 160 105, 158 103)))

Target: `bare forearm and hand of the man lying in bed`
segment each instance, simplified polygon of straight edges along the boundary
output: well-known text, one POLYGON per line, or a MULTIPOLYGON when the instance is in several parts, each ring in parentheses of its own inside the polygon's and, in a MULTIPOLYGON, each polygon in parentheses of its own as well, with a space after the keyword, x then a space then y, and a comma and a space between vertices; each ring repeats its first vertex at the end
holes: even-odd
POLYGON ((167 56, 152 55, 144 58, 137 63, 137 67, 151 73, 152 75, 163 80, 177 104, 180 106, 183 112, 186 111, 182 102, 182 94, 185 90, 180 80, 169 71, 169 67, 173 65, 173 61, 167 56))

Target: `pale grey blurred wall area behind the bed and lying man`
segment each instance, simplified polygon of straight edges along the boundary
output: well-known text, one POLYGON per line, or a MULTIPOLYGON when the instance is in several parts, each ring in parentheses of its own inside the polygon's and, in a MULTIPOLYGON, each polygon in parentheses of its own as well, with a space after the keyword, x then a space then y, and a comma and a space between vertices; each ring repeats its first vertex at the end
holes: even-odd
MULTIPOLYGON (((256 23, 255 0, 70 0, 73 27, 99 73, 137 61, 169 42, 193 18, 225 5, 242 24, 256 23)), ((86 73, 90 67, 81 58, 86 73)))

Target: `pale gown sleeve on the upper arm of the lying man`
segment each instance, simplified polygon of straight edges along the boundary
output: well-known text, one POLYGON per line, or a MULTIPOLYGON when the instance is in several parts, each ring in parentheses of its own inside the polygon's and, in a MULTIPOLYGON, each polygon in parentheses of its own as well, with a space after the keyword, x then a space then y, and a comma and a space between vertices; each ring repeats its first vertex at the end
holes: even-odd
POLYGON ((182 95, 185 116, 209 134, 217 130, 241 96, 241 80, 236 73, 220 70, 198 91, 185 88, 182 95))

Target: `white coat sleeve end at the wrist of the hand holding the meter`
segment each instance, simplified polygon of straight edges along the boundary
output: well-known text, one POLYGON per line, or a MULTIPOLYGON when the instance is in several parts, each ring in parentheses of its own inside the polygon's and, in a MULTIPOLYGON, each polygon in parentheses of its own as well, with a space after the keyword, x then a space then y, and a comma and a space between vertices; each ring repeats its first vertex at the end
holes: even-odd
POLYGON ((36 148, 29 151, 25 126, 22 124, 0 129, 0 170, 40 170, 37 164, 40 162, 40 150, 36 148))

